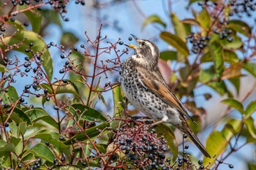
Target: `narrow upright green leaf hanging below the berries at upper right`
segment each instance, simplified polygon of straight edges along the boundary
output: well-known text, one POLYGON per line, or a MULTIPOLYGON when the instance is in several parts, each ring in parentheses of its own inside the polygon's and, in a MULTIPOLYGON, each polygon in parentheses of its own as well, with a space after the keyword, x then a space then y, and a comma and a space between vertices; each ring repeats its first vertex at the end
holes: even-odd
POLYGON ((216 42, 209 44, 208 47, 210 49, 211 57, 214 59, 214 68, 217 73, 217 77, 220 78, 224 71, 222 47, 216 42))

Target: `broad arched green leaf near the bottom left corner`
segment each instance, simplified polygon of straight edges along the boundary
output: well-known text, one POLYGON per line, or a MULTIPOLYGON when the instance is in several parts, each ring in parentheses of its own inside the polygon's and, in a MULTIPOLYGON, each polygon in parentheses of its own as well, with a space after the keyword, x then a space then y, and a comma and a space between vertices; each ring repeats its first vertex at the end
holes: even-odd
POLYGON ((53 158, 55 158, 55 155, 50 150, 50 147, 42 143, 36 144, 30 150, 27 150, 26 152, 24 152, 23 158, 26 157, 26 155, 29 155, 30 153, 35 155, 38 158, 45 159, 50 163, 53 163, 53 158))

